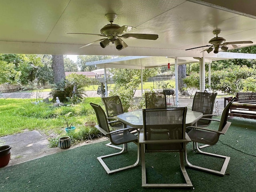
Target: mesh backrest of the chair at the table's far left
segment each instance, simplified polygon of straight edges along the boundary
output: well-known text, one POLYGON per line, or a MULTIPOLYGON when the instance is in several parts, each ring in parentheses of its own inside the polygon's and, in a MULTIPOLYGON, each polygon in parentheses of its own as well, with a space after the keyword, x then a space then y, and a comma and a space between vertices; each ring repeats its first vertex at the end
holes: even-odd
POLYGON ((114 117, 124 113, 122 102, 119 96, 102 97, 101 99, 104 103, 108 117, 114 117))

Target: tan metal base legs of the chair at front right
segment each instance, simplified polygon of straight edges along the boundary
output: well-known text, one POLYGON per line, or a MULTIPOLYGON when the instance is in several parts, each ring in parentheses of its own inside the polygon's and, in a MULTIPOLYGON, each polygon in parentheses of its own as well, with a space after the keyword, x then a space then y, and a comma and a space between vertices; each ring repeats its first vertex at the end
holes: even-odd
POLYGON ((225 174, 226 169, 227 169, 227 167, 228 167, 228 162, 229 162, 229 160, 230 160, 230 157, 228 157, 228 156, 223 156, 223 155, 218 155, 218 154, 213 154, 213 153, 208 153, 208 152, 203 152, 203 151, 201 151, 201 150, 199 149, 198 143, 196 143, 196 149, 197 149, 198 152, 201 153, 201 154, 205 154, 205 155, 208 155, 208 156, 214 156, 214 157, 217 157, 217 158, 225 159, 225 160, 224 160, 224 163, 222 164, 222 168, 221 168, 220 171, 217 171, 217 170, 212 170, 212 169, 208 169, 208 168, 204 168, 204 167, 192 165, 192 164, 188 161, 187 149, 186 149, 186 147, 185 147, 185 159, 186 159, 186 163, 188 164, 188 166, 190 166, 191 168, 203 170, 203 171, 206 171, 206 172, 211 172, 211 173, 214 173, 214 174, 219 174, 219 175, 224 175, 224 174, 225 174))

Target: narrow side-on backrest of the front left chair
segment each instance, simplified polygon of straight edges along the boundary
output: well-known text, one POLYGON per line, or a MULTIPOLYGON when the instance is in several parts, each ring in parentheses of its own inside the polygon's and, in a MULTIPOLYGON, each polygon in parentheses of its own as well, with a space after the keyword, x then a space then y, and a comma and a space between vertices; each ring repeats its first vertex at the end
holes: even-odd
MULTIPOLYGON (((92 106, 92 108, 95 111, 97 120, 98 120, 98 126, 100 126, 100 128, 102 128, 104 131, 106 132, 110 132, 109 130, 109 126, 108 126, 108 120, 106 117, 106 114, 104 112, 104 110, 102 109, 102 107, 98 104, 94 104, 94 103, 90 103, 90 105, 92 106)), ((110 135, 107 135, 108 138, 110 138, 110 135)))

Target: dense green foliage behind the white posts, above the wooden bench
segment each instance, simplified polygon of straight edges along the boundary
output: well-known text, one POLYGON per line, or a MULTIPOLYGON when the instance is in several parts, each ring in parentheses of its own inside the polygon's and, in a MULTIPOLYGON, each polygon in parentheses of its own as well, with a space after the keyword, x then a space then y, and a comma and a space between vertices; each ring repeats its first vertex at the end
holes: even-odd
MULTIPOLYGON (((256 54, 256 46, 230 50, 230 52, 256 54)), ((236 92, 255 92, 256 60, 254 59, 229 59, 214 61, 211 64, 211 89, 228 94, 236 92)), ((208 63, 206 63, 206 72, 208 63)), ((187 65, 188 76, 184 80, 188 88, 199 89, 199 64, 187 65), (195 80, 196 79, 196 80, 195 80)), ((206 74, 206 81, 207 81, 206 74)), ((206 83, 206 87, 208 84, 206 83)))

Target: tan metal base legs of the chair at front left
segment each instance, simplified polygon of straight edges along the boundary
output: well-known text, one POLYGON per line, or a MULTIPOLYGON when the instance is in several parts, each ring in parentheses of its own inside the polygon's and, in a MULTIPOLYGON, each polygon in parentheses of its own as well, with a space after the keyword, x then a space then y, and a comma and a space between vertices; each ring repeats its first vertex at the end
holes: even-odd
POLYGON ((129 168, 133 168, 133 167, 136 167, 140 161, 140 147, 138 146, 137 147, 137 160, 134 164, 132 165, 129 165, 129 166, 125 166, 125 167, 122 167, 122 168, 118 168, 118 169, 114 169, 114 170, 110 170, 108 168, 108 166, 106 165, 106 163, 104 162, 104 158, 108 158, 108 157, 112 157, 112 156, 116 156, 116 155, 119 155, 119 154, 122 154, 125 150, 125 144, 123 144, 123 148, 120 152, 117 152, 117 153, 113 153, 113 154, 109 154, 109 155, 104 155, 104 156, 100 156, 100 157, 97 157, 98 161, 100 162, 100 164, 103 166, 103 168, 106 170, 106 172, 108 174, 112 174, 112 173, 116 173, 116 172, 119 172, 119 171, 122 171, 122 170, 126 170, 126 169, 129 169, 129 168))

